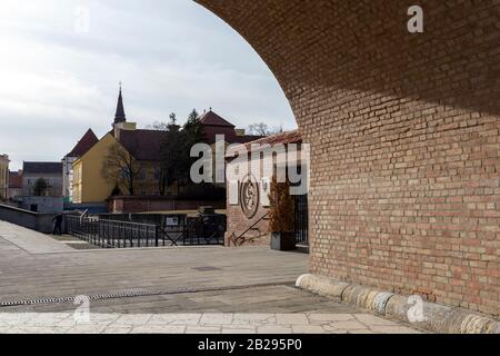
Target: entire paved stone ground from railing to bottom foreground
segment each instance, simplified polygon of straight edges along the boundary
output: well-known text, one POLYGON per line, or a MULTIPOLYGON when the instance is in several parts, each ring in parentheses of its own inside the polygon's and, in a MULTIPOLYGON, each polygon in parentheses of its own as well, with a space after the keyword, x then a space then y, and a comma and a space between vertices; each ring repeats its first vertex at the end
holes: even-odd
POLYGON ((91 299, 90 324, 74 322, 72 303, 3 306, 0 333, 416 332, 293 288, 308 270, 303 254, 266 247, 73 250, 60 245, 0 221, 0 303, 149 295, 91 299))

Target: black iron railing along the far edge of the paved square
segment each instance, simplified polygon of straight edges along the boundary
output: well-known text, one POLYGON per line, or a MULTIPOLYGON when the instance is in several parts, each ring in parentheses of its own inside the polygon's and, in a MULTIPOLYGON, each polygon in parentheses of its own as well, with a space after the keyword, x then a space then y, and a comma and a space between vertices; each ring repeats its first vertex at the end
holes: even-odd
POLYGON ((68 234, 102 248, 223 245, 224 216, 66 216, 68 234))

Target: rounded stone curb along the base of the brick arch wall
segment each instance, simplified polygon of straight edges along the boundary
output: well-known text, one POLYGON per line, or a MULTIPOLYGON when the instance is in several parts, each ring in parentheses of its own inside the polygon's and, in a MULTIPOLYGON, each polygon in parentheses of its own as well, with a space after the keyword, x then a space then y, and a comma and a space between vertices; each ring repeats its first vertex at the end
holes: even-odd
POLYGON ((439 334, 500 334, 500 323, 470 310, 423 301, 418 296, 404 297, 328 277, 302 275, 297 288, 334 298, 372 314, 411 323, 416 327, 439 334), (423 312, 423 313, 422 313, 423 312), (416 322, 417 320, 417 322, 416 322))

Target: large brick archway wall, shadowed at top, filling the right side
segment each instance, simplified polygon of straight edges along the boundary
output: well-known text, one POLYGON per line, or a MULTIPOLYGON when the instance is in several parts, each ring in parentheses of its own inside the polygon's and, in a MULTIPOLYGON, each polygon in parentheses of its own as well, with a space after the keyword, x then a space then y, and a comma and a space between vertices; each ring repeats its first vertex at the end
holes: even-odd
POLYGON ((500 315, 500 1, 199 2, 311 144, 312 273, 500 315))

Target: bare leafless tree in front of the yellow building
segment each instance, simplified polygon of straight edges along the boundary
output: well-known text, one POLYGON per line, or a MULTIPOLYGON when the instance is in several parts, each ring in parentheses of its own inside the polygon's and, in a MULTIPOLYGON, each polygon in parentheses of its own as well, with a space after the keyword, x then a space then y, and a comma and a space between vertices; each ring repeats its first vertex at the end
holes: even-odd
POLYGON ((117 187, 126 187, 134 195, 134 184, 142 170, 141 164, 120 144, 113 144, 102 164, 102 176, 117 187))

